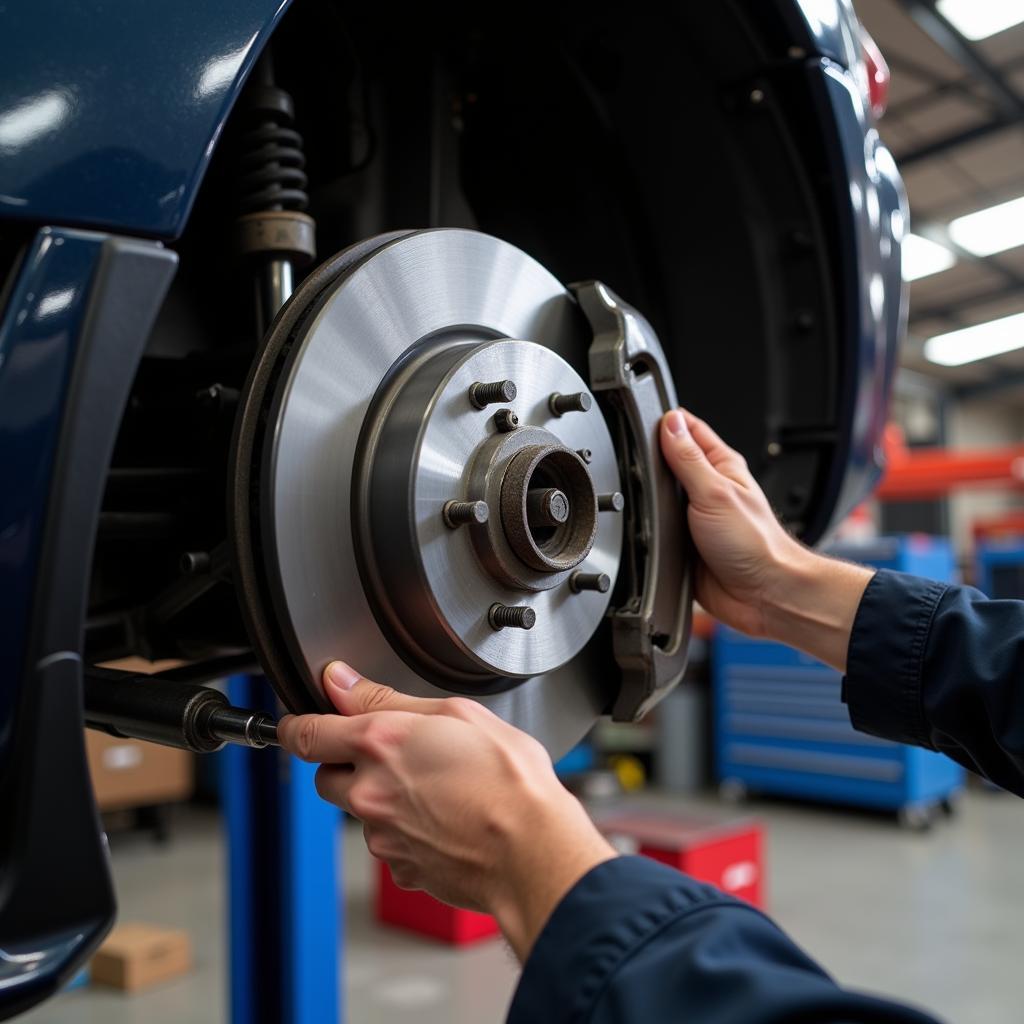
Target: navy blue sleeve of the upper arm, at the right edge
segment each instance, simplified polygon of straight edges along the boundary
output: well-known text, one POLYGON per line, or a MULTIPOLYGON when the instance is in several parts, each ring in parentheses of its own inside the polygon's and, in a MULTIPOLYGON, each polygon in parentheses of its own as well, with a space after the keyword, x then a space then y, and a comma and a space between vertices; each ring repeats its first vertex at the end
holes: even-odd
POLYGON ((941 751, 1024 796, 1024 601, 878 572, 843 699, 862 732, 941 751))

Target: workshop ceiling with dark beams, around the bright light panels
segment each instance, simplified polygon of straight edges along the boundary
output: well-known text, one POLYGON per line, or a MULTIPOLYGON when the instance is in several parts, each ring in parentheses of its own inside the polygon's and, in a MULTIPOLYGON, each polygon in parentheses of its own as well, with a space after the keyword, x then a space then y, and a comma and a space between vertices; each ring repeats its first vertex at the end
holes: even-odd
POLYGON ((932 0, 854 5, 892 72, 879 130, 906 182, 911 229, 956 256, 948 269, 911 283, 902 364, 957 391, 1017 397, 1024 389, 1024 349, 940 367, 925 358, 924 343, 1024 312, 1024 246, 979 257, 952 245, 947 233, 955 217, 1024 196, 1024 24, 972 42, 947 31, 932 0))

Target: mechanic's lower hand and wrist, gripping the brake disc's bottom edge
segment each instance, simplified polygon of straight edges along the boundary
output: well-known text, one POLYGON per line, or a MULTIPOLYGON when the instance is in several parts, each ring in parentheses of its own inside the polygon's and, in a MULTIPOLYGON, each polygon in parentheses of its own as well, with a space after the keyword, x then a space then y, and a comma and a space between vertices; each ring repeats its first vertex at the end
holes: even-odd
POLYGON ((282 746, 323 762, 317 792, 361 819, 397 885, 495 914, 525 958, 562 896, 614 856, 547 752, 468 697, 406 696, 343 662, 324 689, 340 715, 288 716, 282 746))

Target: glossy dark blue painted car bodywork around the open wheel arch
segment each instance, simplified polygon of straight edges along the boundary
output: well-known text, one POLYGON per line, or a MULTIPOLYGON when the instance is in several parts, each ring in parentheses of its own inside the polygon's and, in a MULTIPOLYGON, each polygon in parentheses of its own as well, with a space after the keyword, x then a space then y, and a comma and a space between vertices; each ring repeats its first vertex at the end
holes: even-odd
MULTIPOLYGON (((855 40, 847 3, 776 4, 809 57, 819 58, 809 61, 808 75, 834 163, 842 243, 835 259, 848 310, 842 327, 849 360, 848 450, 836 461, 828 501, 845 513, 880 472, 893 340, 904 316, 899 241, 905 201, 849 70, 855 40)), ((86 310, 97 298, 93 285, 104 242, 108 236, 173 240, 181 234, 225 120, 288 5, 288 0, 189 5, 122 0, 100 10, 95 3, 51 0, 11 4, 3 12, 0 229, 7 223, 34 232, 0 297, 4 787, 20 784, 16 772, 12 776, 17 767, 12 751, 18 730, 29 727, 28 689, 37 678, 38 652, 32 657, 28 652, 34 607, 47 599, 40 594, 40 575, 52 528, 48 509, 57 490, 55 460, 76 422, 69 381, 86 310), (67 230, 76 227, 95 233, 67 230)), ((126 347, 140 350, 143 340, 126 347)), ((72 655, 70 664, 74 651, 63 653, 72 655)), ((80 729, 75 703, 80 696, 70 691, 70 714, 78 717, 80 729)), ((44 744, 47 735, 33 741, 44 744)), ((94 840, 99 843, 98 833, 94 840)), ((0 837, 0 926, 10 886, 17 885, 7 870, 12 849, 12 837, 0 837)), ((113 902, 108 921, 112 915, 113 902)), ((35 948, 18 946, 0 927, 0 1017, 52 991, 102 933, 91 920, 70 919, 66 926, 52 929, 49 940, 38 939, 35 948), (19 958, 12 959, 15 954, 19 958), (36 966, 17 967, 28 963, 36 966)))

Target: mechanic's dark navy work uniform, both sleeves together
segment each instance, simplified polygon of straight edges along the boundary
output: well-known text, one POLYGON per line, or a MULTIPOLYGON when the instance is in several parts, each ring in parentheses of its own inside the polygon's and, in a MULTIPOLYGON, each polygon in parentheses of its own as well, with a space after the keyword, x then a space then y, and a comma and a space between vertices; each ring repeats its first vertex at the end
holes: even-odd
MULTIPOLYGON (((1024 602, 879 572, 857 610, 853 724, 1024 795, 1024 602)), ((894 950, 894 955, 898 950, 894 950)), ((840 988, 771 921, 642 857, 586 874, 523 969, 511 1024, 933 1024, 840 988)))

